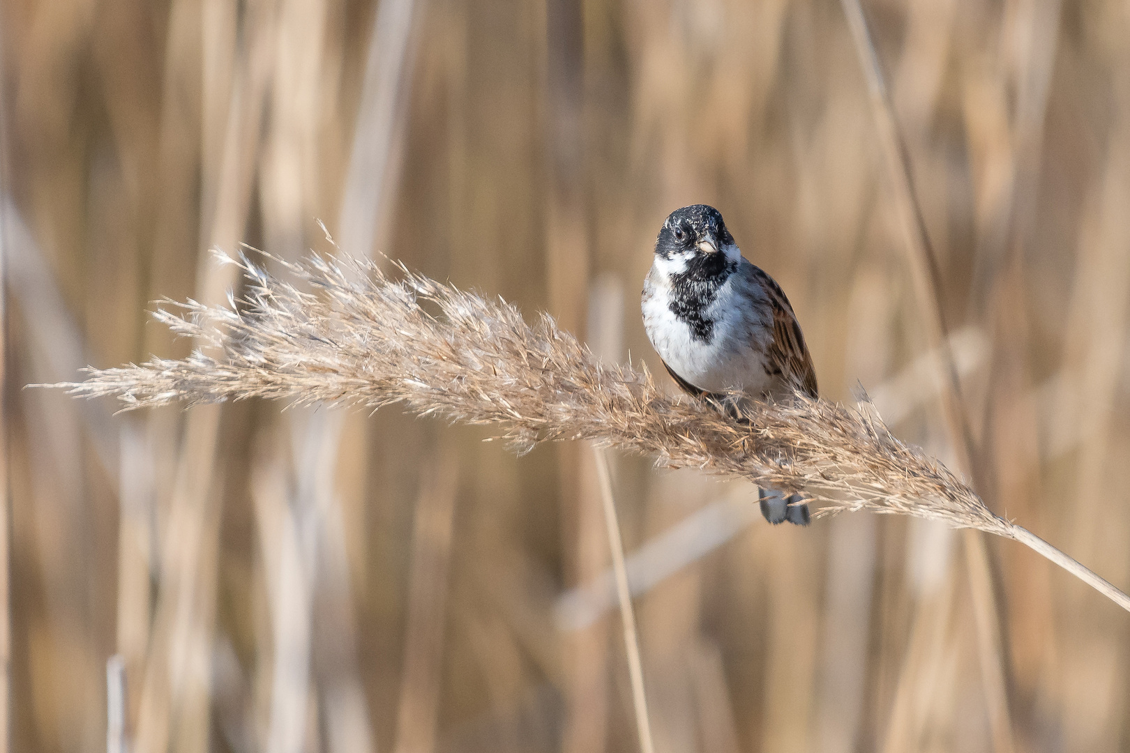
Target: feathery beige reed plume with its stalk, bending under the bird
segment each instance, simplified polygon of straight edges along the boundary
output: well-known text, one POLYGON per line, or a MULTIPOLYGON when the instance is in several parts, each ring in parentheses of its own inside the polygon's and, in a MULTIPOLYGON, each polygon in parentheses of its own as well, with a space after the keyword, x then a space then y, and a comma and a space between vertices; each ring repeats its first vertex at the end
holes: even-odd
POLYGON ((802 493, 818 515, 868 509, 940 520, 1016 539, 1130 611, 1130 597, 1029 532, 993 515, 938 461, 899 441, 863 403, 851 408, 797 395, 757 403, 737 418, 666 394, 646 368, 608 365, 547 314, 536 324, 502 299, 459 290, 398 265, 311 255, 269 274, 246 255, 247 287, 228 306, 194 300, 158 309, 174 332, 209 345, 183 360, 89 369, 54 385, 72 395, 113 395, 127 410, 264 397, 294 404, 379 409, 498 424, 519 452, 537 443, 589 439, 802 493), (299 289, 303 284, 306 289, 299 289))

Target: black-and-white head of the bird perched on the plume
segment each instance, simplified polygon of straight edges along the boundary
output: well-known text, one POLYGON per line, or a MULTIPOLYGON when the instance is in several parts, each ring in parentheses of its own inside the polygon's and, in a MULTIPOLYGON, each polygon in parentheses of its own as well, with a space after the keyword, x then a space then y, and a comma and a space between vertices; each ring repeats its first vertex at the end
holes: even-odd
POLYGON ((740 259, 722 214, 706 204, 676 209, 655 238, 655 263, 668 274, 721 274, 740 259))

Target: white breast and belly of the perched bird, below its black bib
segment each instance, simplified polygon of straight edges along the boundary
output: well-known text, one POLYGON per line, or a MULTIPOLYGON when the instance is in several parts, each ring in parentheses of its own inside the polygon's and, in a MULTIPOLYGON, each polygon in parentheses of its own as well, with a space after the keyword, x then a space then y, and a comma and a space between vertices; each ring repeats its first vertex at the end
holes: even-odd
POLYGON ((741 389, 759 395, 770 385, 765 371, 768 323, 759 315, 759 289, 731 274, 703 315, 713 321, 711 336, 699 340, 671 310, 668 277, 653 269, 643 297, 643 323, 660 358, 680 377, 707 392, 741 389), (647 295, 650 294, 650 295, 647 295))

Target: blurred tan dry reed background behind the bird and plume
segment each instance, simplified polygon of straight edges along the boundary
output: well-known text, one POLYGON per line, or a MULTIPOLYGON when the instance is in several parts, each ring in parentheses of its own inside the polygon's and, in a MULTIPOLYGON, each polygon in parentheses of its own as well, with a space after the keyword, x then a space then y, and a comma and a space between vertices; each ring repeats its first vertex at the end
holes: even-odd
MULTIPOLYGON (((869 1, 998 514, 1130 583, 1130 11, 869 1)), ((10 0, 9 750, 635 750, 583 446, 273 403, 21 391, 186 343, 211 245, 384 251, 647 360, 655 230, 704 201, 957 466, 868 89, 829 0, 10 0), (597 585, 593 585, 593 584, 597 585), (114 725, 110 725, 114 727, 114 725), (111 741, 116 742, 116 741, 111 741)), ((1130 748, 1130 621, 1034 553, 612 456, 655 747, 1130 748), (986 573, 979 578, 976 572, 986 573), (977 606, 980 604, 980 606, 977 606), (985 605, 988 604, 988 612, 985 605), (986 622, 985 614, 991 620, 986 622)))

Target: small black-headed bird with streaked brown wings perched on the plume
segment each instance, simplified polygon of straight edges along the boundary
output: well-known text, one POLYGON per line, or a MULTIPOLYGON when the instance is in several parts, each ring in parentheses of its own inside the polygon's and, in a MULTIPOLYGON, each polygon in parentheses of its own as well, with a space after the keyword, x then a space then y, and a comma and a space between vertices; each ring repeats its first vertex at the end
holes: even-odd
MULTIPOLYGON (((719 402, 730 389, 755 400, 794 391, 816 397, 812 358, 789 299, 741 255, 713 207, 684 207, 663 222, 641 308, 647 339, 684 392, 719 402)), ((760 507, 774 525, 808 525, 799 494, 762 490, 760 507)))

